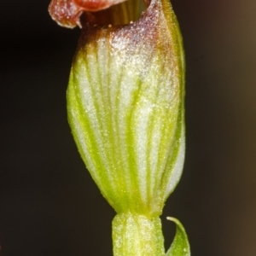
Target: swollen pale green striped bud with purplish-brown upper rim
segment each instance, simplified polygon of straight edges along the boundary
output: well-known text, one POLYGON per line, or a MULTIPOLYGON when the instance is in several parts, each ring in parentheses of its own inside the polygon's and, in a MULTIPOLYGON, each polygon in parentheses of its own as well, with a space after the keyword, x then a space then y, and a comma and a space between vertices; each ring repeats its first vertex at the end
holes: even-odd
POLYGON ((183 48, 169 3, 84 26, 67 90, 79 152, 116 212, 159 216, 183 168, 183 48))

